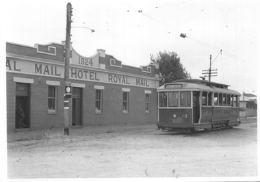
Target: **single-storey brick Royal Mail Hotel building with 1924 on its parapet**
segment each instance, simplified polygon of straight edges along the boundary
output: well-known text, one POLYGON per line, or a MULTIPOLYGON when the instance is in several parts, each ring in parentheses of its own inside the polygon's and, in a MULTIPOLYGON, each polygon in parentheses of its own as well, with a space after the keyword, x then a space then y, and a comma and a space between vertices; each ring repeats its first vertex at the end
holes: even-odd
MULTIPOLYGON (((64 44, 6 43, 8 130, 64 127, 64 44), (17 125, 19 104, 25 129, 17 125)), ((72 43, 70 53, 70 127, 157 123, 159 64, 127 66, 102 49, 86 57, 72 43)))

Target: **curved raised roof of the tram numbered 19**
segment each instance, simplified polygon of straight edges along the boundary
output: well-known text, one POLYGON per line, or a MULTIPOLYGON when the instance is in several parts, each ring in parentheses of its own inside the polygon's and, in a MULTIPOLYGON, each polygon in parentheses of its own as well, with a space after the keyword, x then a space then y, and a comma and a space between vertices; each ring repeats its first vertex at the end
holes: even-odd
POLYGON ((222 92, 226 94, 236 94, 236 95, 241 95, 239 92, 235 90, 230 90, 228 89, 229 85, 222 84, 222 83, 216 83, 216 82, 211 82, 211 81, 206 81, 206 80, 200 80, 200 79, 179 79, 176 81, 172 81, 171 83, 166 83, 164 86, 161 86, 157 88, 157 92, 166 90, 204 90, 207 92, 222 92), (181 85, 181 88, 178 87, 170 87, 171 85, 181 85))

